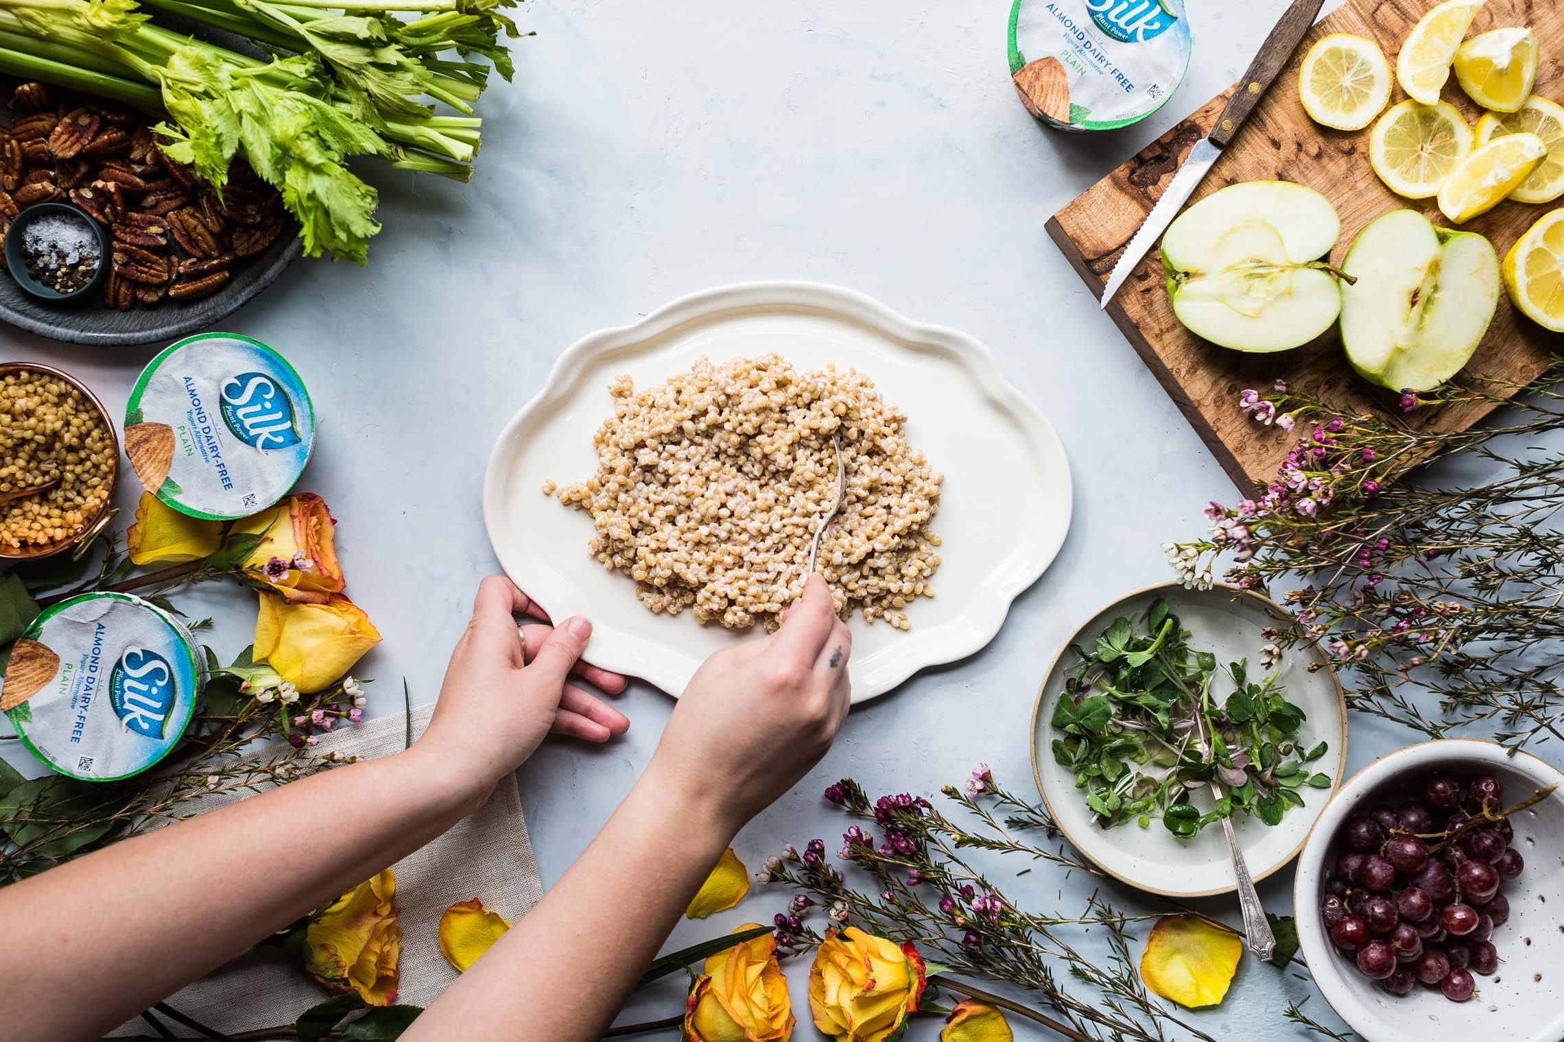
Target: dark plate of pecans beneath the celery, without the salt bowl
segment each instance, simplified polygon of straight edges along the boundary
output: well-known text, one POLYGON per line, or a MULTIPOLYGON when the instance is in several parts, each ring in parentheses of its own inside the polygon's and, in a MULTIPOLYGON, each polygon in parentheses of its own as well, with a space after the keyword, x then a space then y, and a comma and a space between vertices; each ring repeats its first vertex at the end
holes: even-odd
POLYGON ((149 344, 208 328, 302 253, 282 198, 236 164, 221 197, 153 144, 156 119, 44 84, 0 80, 0 231, 69 202, 113 239, 102 291, 50 303, 0 273, 0 320, 74 344, 149 344))

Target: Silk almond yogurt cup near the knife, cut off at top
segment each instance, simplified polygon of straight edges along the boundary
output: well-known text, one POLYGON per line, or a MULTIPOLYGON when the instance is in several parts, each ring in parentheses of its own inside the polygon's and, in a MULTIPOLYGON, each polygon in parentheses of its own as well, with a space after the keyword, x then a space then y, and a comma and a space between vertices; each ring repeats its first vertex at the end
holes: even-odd
POLYGON ((1013 0, 1010 75, 1037 119, 1112 130, 1151 116, 1189 72, 1184 0, 1013 0))

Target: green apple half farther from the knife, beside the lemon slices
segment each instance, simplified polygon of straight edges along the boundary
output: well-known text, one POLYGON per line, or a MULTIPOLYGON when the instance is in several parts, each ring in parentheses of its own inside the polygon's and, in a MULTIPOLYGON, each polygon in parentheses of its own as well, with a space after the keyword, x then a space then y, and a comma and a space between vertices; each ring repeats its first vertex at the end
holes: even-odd
POLYGON ((1342 347, 1364 380, 1429 391, 1467 364, 1498 306, 1498 255, 1472 231, 1395 209, 1358 233, 1342 269, 1342 347))

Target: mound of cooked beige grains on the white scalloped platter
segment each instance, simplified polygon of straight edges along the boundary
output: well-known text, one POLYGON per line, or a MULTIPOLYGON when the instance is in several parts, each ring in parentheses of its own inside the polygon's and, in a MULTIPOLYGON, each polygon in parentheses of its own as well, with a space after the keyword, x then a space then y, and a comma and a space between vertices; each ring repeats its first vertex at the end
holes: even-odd
POLYGON ((837 501, 837 447, 845 495, 818 553, 837 611, 906 630, 907 605, 934 597, 942 476, 868 376, 799 372, 777 355, 702 358, 640 391, 621 376, 610 392, 597 472, 558 498, 593 516, 591 555, 635 580, 654 612, 776 628, 837 501))

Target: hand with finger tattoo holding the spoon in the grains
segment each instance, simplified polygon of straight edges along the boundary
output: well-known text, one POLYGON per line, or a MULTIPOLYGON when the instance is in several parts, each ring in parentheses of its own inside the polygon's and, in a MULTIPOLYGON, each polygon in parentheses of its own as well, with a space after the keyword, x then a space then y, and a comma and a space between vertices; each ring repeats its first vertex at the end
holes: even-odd
POLYGON ((738 831, 830 748, 848 715, 852 636, 818 575, 765 641, 708 658, 646 773, 738 831))

